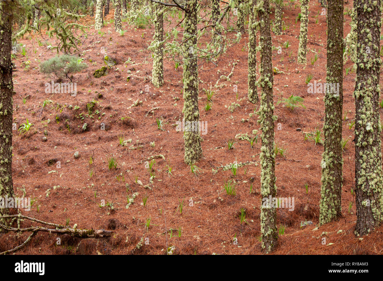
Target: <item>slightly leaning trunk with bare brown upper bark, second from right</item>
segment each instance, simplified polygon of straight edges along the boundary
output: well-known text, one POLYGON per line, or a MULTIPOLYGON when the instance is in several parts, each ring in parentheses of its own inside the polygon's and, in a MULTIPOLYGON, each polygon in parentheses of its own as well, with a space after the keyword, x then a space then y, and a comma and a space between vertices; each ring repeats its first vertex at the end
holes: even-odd
POLYGON ((319 224, 342 215, 343 0, 328 1, 326 83, 319 224))

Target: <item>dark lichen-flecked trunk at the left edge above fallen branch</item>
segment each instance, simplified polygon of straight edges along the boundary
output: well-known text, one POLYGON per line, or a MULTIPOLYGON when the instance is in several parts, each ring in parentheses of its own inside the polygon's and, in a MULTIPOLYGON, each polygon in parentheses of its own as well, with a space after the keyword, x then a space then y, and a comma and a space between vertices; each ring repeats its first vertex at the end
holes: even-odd
MULTIPOLYGON (((14 197, 12 182, 12 3, 10 2, 0 2, 0 197, 2 198, 14 197)), ((0 216, 14 213, 15 209, 0 208, 0 216)), ((8 224, 8 221, 0 219, 0 223, 8 224)))

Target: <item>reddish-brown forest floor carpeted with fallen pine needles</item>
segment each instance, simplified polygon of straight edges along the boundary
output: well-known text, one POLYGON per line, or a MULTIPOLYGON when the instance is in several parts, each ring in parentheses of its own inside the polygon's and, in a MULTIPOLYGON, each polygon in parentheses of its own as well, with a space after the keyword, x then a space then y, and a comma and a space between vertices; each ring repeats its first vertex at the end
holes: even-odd
MULTIPOLYGON (((352 3, 345 4, 344 36, 350 31, 351 19, 348 11, 351 8, 352 3)), ((324 95, 308 94, 305 80, 309 74, 313 75, 312 81, 324 82, 326 79, 326 17, 320 15, 322 7, 315 1, 310 3, 309 11, 307 65, 296 63, 300 32, 300 21, 296 23, 296 16, 300 13, 299 4, 293 3, 283 8, 283 21, 288 27, 283 35, 274 36, 272 33, 272 44, 275 47, 273 67, 284 71, 274 76, 273 87, 275 115, 278 116, 275 124, 282 125, 282 130, 277 130, 277 125, 275 127, 275 142, 286 149, 285 157, 278 156, 276 159, 278 197, 295 198, 294 211, 278 208, 278 227, 285 226, 285 233, 279 236, 279 245, 274 253, 381 253, 383 227, 363 239, 353 234, 356 221, 355 200, 351 193, 354 185, 354 128, 350 129, 348 124, 355 114, 355 73, 346 75, 346 68, 352 67, 350 59, 344 65, 343 84, 343 111, 349 112, 343 126, 343 137, 349 137, 349 142, 343 154, 342 218, 314 231, 319 215, 323 146, 305 141, 303 133, 296 129, 301 127, 303 132, 309 132, 315 127, 321 128, 323 124, 324 95), (283 47, 286 41, 290 43, 287 49, 283 47), (279 46, 282 47, 282 54, 278 54, 279 46), (318 55, 318 60, 311 65, 311 58, 315 54, 318 55), (281 96, 288 97, 292 94, 304 98, 306 109, 298 107, 292 111, 283 104, 277 104, 281 96), (307 194, 305 184, 309 187, 307 194), (351 202, 353 205, 349 211, 351 202), (301 221, 305 220, 311 220, 314 224, 300 227, 301 221), (323 237, 326 238, 326 244, 322 244, 323 237)), ((113 11, 106 20, 112 18, 113 11)), ((93 24, 93 19, 89 22, 93 24)), ((226 144, 233 138, 236 130, 237 133, 250 134, 253 129, 260 128, 257 115, 249 117, 259 104, 254 105, 247 101, 247 34, 242 36, 239 44, 234 45, 220 58, 218 67, 203 70, 202 68, 211 68, 211 65, 204 65, 199 70, 200 120, 207 122, 208 133, 203 135, 203 158, 197 163, 201 174, 195 176, 183 162, 182 132, 176 132, 172 126, 176 121, 182 120, 183 116, 182 67, 175 69, 174 62, 165 59, 165 84, 162 88, 155 89, 148 80, 152 70, 152 56, 147 50, 154 28, 135 30, 123 22, 123 29, 127 30, 123 36, 114 32, 113 23, 102 28, 102 32, 105 32, 102 36, 90 29, 90 34, 93 32, 93 35, 82 46, 82 50, 86 51, 83 55, 84 62, 89 67, 75 74, 73 79, 77 83, 77 96, 46 94, 44 84, 50 82, 51 78, 39 72, 39 63, 53 57, 55 53, 46 48, 47 44, 38 45, 38 39, 44 42, 41 35, 33 35, 32 39, 26 39, 25 36, 25 39, 19 41, 21 45, 26 45, 28 58, 18 53, 13 60, 18 69, 14 75, 16 94, 13 99, 13 118, 17 127, 26 118, 34 126, 31 133, 25 135, 13 131, 13 184, 17 195, 22 195, 25 188, 26 196, 36 200, 31 211, 23 213, 59 224, 66 224, 69 220, 70 226, 78 224, 79 228, 112 229, 114 234, 106 239, 84 239, 80 244, 78 239, 61 236, 61 245, 56 245, 57 235, 42 233, 17 253, 126 254, 131 253, 142 237, 149 238, 146 239, 149 244, 135 253, 161 254, 166 250, 166 243, 174 245, 174 253, 177 254, 262 253, 259 240, 260 166, 241 167, 235 177, 230 170, 220 169, 218 173, 212 173, 212 168, 216 169, 233 161, 248 161, 249 157, 259 163, 260 143, 252 151, 247 141, 237 140, 235 149, 231 150, 228 150, 226 144), (96 79, 92 74, 103 66, 103 47, 107 47, 107 53, 118 58, 119 62, 109 70, 107 76, 96 79), (129 57, 132 63, 125 64, 129 57), (26 60, 30 61, 28 69, 21 65, 26 60), (97 65, 92 65, 90 60, 97 62, 97 65), (228 75, 232 62, 236 60, 238 64, 234 67, 231 81, 220 81, 219 84, 224 86, 213 88, 215 95, 212 108, 205 112, 206 96, 202 89, 214 86, 221 75, 228 75), (128 74, 127 70, 131 70, 131 73, 128 74), (221 72, 218 73, 218 70, 221 72), (131 79, 126 82, 128 75, 131 79), (238 88, 239 101, 233 91, 234 84, 238 88), (100 93, 102 97, 98 97, 100 93), (24 104, 23 97, 26 96, 28 97, 24 104), (179 100, 175 101, 174 97, 179 100), (52 103, 41 112, 46 99, 52 103), (142 104, 131 107, 137 99, 142 104), (92 118, 86 116, 86 105, 93 100, 96 101, 95 110, 100 113, 94 114, 92 118), (232 102, 238 103, 240 107, 231 113, 227 107, 232 102), (69 105, 73 108, 69 109, 69 105), (75 106, 79 109, 75 109, 75 106), (155 107, 158 109, 152 110, 155 107), (77 118, 80 113, 85 118, 82 121, 81 117, 77 118), (121 120, 122 117, 131 119, 121 120), (157 128, 156 118, 165 120, 165 131, 157 128), (241 119, 245 122, 241 122, 241 119), (83 123, 87 123, 86 132, 80 130, 83 123), (101 123, 105 124, 105 130, 101 130, 101 123), (71 129, 70 132, 67 126, 71 129), (43 141, 44 130, 47 130, 46 142, 43 141), (119 136, 132 141, 121 147, 119 136), (153 141, 154 147, 151 146, 153 141), (130 146, 136 149, 131 149, 130 146), (77 159, 73 156, 76 151, 80 151, 77 159), (93 154, 95 169, 91 177, 93 164, 89 164, 89 159, 93 154), (135 177, 144 185, 149 182, 145 161, 158 154, 162 154, 165 159, 155 159, 156 177, 153 190, 136 184, 135 177), (123 168, 118 165, 116 170, 108 169, 107 159, 112 156, 123 168), (61 163, 59 168, 57 161, 61 163), (172 166, 170 177, 165 172, 166 165, 172 166), (252 194, 251 178, 254 178, 255 190, 252 194), (226 195, 223 190, 223 184, 227 180, 237 182, 237 193, 234 197, 226 195), (135 192, 139 195, 126 209, 127 196, 131 197, 135 192), (142 203, 144 197, 147 197, 145 206, 142 203), (185 206, 181 214, 179 204, 183 198, 185 206), (113 210, 107 206, 100 208, 101 200, 113 203, 113 210), (190 200, 193 200, 193 206, 189 205, 190 200), (158 208, 161 209, 161 214, 158 208), (240 223, 241 208, 246 210, 247 223, 240 223), (151 218, 148 230, 144 225, 147 218, 151 218), (165 237, 165 224, 167 229, 180 228, 180 236, 178 230, 174 230, 173 237, 170 238, 170 233, 165 237), (237 244, 233 243, 234 237, 237 237, 237 244)), ((27 234, 0 236, 0 252, 21 244, 26 236, 27 234)))

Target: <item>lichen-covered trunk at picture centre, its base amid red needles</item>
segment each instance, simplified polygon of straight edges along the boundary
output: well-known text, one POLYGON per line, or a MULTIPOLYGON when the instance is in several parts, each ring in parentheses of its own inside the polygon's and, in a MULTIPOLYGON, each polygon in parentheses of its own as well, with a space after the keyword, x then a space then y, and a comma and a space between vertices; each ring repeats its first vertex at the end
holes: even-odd
POLYGON ((187 0, 185 11, 184 64, 183 64, 183 120, 185 121, 185 164, 192 165, 202 156, 200 111, 198 109, 198 65, 195 54, 197 44, 197 0, 187 0), (190 123, 189 123, 190 122, 190 123), (198 124, 195 130, 194 124, 198 124), (192 130, 192 128, 194 128, 192 130))

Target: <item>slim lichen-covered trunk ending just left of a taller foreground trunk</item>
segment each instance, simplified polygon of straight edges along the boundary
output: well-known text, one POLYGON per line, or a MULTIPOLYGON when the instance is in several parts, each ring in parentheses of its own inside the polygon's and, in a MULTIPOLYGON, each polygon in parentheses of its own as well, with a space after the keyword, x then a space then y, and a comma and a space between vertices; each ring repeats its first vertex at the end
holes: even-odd
POLYGON ((259 101, 257 92, 257 18, 255 15, 254 4, 256 0, 250 0, 250 15, 249 15, 249 55, 247 58, 247 96, 253 104, 259 101))

